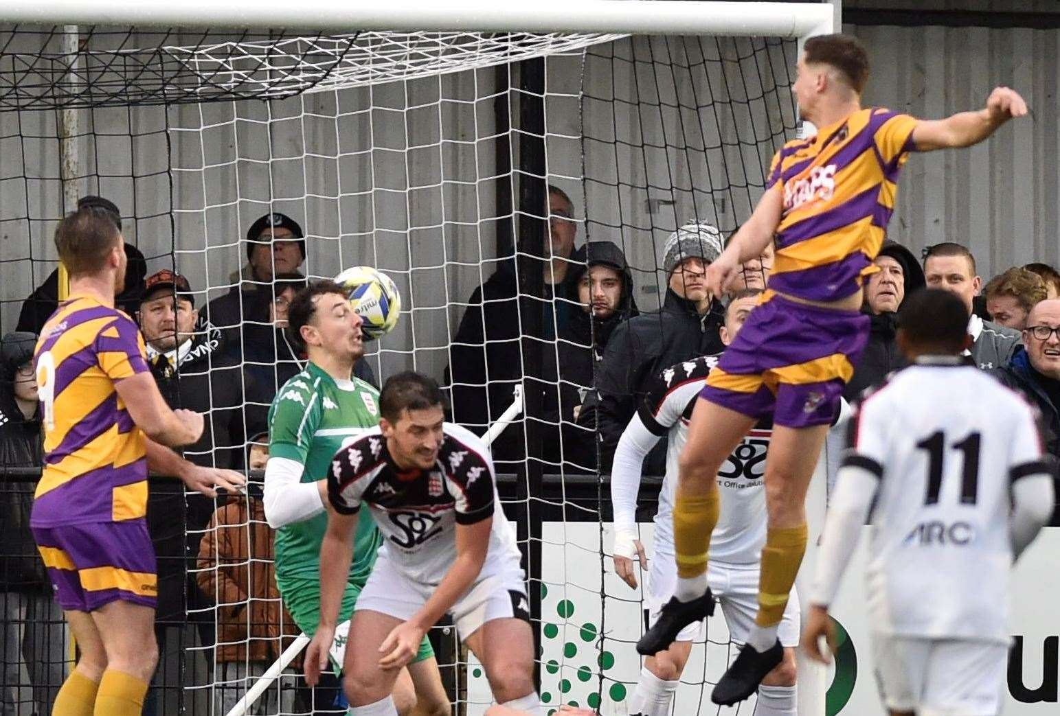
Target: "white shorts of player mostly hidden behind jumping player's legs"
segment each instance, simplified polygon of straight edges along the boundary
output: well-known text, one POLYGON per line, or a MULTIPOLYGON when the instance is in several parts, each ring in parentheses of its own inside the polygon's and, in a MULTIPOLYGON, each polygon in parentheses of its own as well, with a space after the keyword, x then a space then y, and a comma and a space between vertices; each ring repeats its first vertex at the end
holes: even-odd
MULTIPOLYGON (((729 628, 729 639, 737 644, 747 641, 755 626, 755 615, 758 613, 758 566, 734 566, 723 562, 709 562, 707 568, 707 584, 718 598, 729 628)), ((671 555, 656 554, 652 558, 646 585, 644 609, 648 626, 658 620, 662 606, 670 601, 677 587, 677 563, 671 555)), ((678 642, 691 642, 699 639, 702 623, 689 624, 677 634, 678 642)), ((781 646, 798 646, 799 637, 799 604, 798 595, 792 589, 784 607, 784 615, 777 630, 781 646)))

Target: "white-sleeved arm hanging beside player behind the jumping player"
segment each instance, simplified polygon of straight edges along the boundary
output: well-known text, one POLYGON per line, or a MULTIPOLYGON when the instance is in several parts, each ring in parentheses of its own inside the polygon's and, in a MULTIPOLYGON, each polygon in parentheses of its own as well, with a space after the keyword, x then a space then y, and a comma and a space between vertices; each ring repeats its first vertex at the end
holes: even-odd
POLYGON ((644 427, 640 415, 634 415, 622 431, 615 448, 615 462, 611 470, 611 502, 615 512, 615 574, 631 588, 637 588, 637 575, 633 560, 640 562, 640 569, 648 569, 644 545, 637 534, 637 494, 640 491, 640 477, 644 458, 651 452, 659 436, 644 427))

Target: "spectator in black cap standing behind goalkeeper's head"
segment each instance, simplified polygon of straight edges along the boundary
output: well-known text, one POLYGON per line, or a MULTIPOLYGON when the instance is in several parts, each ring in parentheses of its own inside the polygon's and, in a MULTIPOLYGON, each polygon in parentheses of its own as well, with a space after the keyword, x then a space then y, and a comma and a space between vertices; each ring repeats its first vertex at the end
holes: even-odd
POLYGON ((304 236, 298 221, 280 212, 265 214, 251 223, 247 265, 229 276, 235 284, 232 289, 207 306, 210 323, 225 330, 229 340, 238 340, 240 324, 254 311, 255 304, 271 301, 272 278, 297 273, 305 262, 304 236))

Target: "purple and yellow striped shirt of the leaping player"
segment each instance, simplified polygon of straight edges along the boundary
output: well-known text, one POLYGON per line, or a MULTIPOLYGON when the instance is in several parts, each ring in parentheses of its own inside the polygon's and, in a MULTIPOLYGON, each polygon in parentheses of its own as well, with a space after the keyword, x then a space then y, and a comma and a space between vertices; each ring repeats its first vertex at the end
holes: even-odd
POLYGON ((784 144, 766 182, 781 182, 784 193, 771 289, 838 301, 861 288, 876 271, 916 125, 908 114, 873 107, 784 144))

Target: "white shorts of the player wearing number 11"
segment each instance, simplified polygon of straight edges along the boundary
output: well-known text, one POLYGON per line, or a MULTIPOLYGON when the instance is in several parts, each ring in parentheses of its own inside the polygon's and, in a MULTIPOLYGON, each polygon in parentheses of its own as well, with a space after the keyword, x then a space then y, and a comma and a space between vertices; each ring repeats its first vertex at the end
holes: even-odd
POLYGON ((1007 645, 876 633, 871 641, 877 685, 888 709, 919 716, 1000 713, 1007 645))

